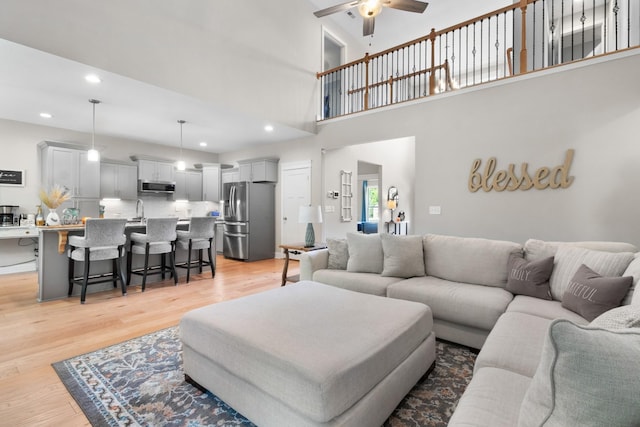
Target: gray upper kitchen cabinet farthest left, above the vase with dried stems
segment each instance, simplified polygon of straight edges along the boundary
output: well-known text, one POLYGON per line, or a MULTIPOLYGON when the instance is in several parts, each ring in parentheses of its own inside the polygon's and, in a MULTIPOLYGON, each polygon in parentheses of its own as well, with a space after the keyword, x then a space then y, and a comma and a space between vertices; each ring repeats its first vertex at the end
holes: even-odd
POLYGON ((66 188, 74 198, 100 197, 100 163, 90 162, 87 151, 74 144, 44 142, 40 144, 42 187, 66 188))

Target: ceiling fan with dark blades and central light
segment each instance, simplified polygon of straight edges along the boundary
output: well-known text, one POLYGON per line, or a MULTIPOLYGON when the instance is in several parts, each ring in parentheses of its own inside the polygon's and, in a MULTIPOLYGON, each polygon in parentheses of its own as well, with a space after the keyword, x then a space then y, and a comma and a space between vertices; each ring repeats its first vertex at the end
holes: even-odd
POLYGON ((360 16, 363 18, 362 35, 364 37, 373 34, 376 16, 382 11, 382 7, 390 7, 392 9, 404 10, 406 12, 422 13, 429 3, 418 0, 352 0, 347 3, 338 4, 319 10, 313 14, 318 18, 331 15, 332 13, 349 10, 353 7, 358 8, 360 16))

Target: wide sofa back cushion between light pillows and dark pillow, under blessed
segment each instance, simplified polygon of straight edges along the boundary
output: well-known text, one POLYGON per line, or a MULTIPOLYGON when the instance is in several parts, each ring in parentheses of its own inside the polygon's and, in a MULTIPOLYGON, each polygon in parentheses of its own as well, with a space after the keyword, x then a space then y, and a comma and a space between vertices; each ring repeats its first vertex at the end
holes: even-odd
POLYGON ((435 234, 424 237, 427 275, 453 282, 504 288, 511 254, 522 255, 522 246, 472 237, 435 234))

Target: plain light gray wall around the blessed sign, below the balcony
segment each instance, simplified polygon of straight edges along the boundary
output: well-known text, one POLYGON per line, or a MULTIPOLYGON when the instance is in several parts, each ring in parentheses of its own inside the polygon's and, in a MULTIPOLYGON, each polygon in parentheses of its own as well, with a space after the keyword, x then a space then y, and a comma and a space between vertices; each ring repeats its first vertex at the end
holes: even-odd
POLYGON ((327 122, 319 143, 415 136, 415 233, 640 246, 640 52, 608 59, 327 122), (474 159, 496 157, 499 169, 527 162, 532 172, 562 163, 567 149, 575 149, 567 189, 467 189, 474 159))

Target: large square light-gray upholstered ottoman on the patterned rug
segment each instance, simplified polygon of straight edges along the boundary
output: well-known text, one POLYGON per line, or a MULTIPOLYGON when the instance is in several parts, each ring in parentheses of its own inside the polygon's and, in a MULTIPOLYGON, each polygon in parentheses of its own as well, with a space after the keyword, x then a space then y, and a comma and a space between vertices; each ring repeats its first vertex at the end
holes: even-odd
POLYGON ((259 426, 381 425, 435 364, 424 304, 315 282, 185 314, 188 381, 259 426))

